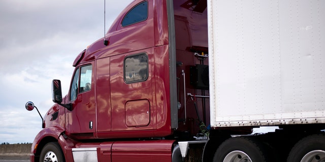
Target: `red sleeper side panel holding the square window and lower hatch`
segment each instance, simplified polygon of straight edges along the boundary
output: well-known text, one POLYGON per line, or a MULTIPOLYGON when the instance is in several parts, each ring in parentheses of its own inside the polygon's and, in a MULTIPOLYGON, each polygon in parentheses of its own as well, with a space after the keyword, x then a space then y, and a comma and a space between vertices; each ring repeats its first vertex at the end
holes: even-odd
POLYGON ((112 131, 154 127, 151 49, 111 57, 112 131))

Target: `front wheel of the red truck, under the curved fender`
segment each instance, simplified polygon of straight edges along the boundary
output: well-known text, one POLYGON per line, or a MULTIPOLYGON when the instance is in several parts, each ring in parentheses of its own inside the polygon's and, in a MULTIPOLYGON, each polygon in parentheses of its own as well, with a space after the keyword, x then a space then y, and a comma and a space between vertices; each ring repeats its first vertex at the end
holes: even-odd
POLYGON ((57 142, 46 144, 40 156, 40 162, 64 162, 64 155, 60 145, 57 142))

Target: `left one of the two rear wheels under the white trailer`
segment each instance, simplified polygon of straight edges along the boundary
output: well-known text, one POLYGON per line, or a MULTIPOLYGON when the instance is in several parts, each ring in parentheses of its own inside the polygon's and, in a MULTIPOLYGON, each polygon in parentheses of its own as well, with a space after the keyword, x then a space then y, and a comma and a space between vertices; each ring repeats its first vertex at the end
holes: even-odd
POLYGON ((214 154, 213 162, 265 162, 266 145, 248 137, 233 137, 224 141, 214 154))

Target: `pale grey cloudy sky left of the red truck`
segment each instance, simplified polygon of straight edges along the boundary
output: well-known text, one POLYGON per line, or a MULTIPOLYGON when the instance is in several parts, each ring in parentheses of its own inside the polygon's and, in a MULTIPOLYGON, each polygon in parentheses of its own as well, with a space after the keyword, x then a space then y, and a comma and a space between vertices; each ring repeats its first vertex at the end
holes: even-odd
MULTIPOLYGON (((132 0, 106 1, 106 30, 132 0)), ((0 144, 31 143, 53 105, 51 80, 67 94, 75 57, 104 36, 104 0, 0 1, 0 144)))

